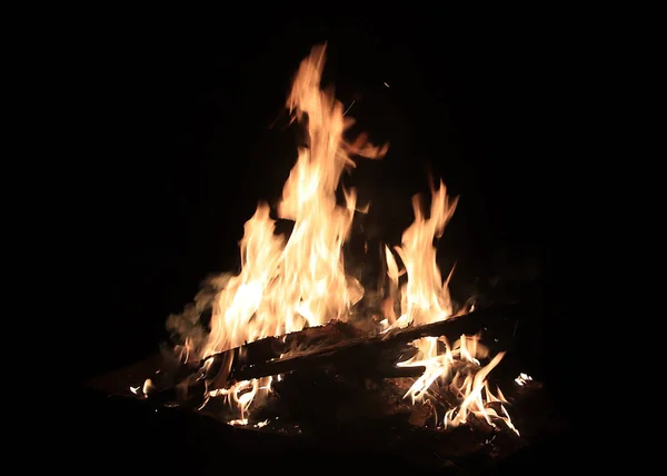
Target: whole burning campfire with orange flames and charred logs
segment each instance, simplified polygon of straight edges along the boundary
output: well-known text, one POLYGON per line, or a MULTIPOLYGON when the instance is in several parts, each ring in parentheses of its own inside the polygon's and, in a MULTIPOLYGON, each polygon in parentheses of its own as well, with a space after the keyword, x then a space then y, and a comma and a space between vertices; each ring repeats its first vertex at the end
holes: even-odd
POLYGON ((367 208, 341 176, 381 160, 388 145, 347 138, 355 121, 320 85, 325 52, 315 47, 293 79, 287 109, 307 143, 277 206, 260 202, 245 224, 240 271, 207 280, 169 317, 173 346, 130 390, 252 432, 404 428, 421 446, 439 442, 447 462, 516 452, 530 417, 514 410, 540 384, 518 371, 494 377, 519 307, 450 297, 455 269, 440 270, 434 245, 458 201, 445 184, 434 179, 430 196, 414 198, 400 242, 379 250, 380 285, 348 270, 345 247, 367 208))

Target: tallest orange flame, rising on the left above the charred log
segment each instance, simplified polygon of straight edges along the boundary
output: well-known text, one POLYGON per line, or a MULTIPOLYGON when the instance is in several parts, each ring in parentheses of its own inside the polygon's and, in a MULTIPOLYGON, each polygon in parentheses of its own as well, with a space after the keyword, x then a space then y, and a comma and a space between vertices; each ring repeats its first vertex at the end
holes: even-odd
POLYGON ((246 341, 346 320, 364 288, 345 272, 342 245, 356 208, 355 190, 336 190, 350 150, 379 158, 386 149, 362 143, 352 148, 344 132, 352 120, 342 103, 320 90, 325 47, 312 49, 297 72, 287 101, 296 119, 307 119, 308 147, 298 150, 278 204, 278 217, 295 222, 287 241, 273 234, 270 209, 260 204, 245 225, 240 242, 241 272, 229 279, 213 304, 211 331, 203 355, 246 341))

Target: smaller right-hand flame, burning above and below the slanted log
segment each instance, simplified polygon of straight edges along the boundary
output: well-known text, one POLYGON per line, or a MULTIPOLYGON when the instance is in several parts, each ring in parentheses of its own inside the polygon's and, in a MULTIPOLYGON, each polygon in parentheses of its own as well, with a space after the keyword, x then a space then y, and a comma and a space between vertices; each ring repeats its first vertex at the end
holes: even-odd
MULTIPOLYGON (((407 274, 407 282, 399 289, 398 264, 396 258, 386 248, 387 276, 389 278, 389 299, 400 300, 401 315, 395 318, 394 306, 385 303, 388 310, 385 318, 386 330, 395 327, 405 327, 409 324, 424 325, 448 319, 452 316, 452 303, 449 295, 449 274, 445 282, 436 261, 436 247, 434 239, 440 238, 445 226, 454 215, 458 200, 449 200, 445 185, 440 181, 436 189, 431 187, 431 206, 429 218, 424 216, 421 200, 415 196, 412 208, 415 221, 401 237, 401 246, 395 247, 407 274)), ((454 269, 452 269, 454 271, 454 269)), ((462 335, 452 347, 444 337, 424 337, 412 343, 418 349, 417 356, 399 363, 401 367, 424 367, 424 374, 415 380, 406 393, 412 403, 421 401, 428 397, 428 391, 437 381, 449 386, 449 390, 459 398, 459 405, 449 409, 442 420, 445 427, 455 427, 467 423, 470 414, 484 418, 489 425, 501 419, 518 434, 505 406, 500 405, 500 413, 489 407, 489 403, 507 404, 498 389, 494 395, 486 380, 488 374, 502 359, 504 354, 496 355, 486 366, 481 366, 481 358, 487 357, 488 349, 479 344, 480 335, 462 335), (441 343, 442 346, 438 344, 441 343), (444 347, 442 350, 439 347, 444 347), (464 365, 461 365, 464 364, 464 365)))

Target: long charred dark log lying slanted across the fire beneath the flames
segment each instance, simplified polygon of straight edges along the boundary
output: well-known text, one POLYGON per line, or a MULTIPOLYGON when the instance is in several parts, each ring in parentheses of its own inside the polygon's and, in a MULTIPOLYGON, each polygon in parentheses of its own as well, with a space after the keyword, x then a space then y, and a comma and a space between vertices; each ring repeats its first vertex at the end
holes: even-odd
MULTIPOLYGON (((448 320, 408 326, 376 336, 359 337, 354 326, 331 321, 281 337, 269 337, 241 347, 188 363, 190 374, 201 374, 209 361, 206 380, 217 387, 226 381, 245 380, 328 367, 337 373, 368 378, 418 377, 422 367, 396 367, 415 355, 411 341, 421 337, 447 336, 450 341, 461 334, 478 331, 508 335, 525 310, 516 305, 476 310, 448 320), (293 350, 297 349, 297 350, 293 350), (287 354, 283 357, 280 355, 287 354)), ((499 339, 500 346, 505 341, 499 339)), ((182 370, 181 370, 182 374, 182 370)), ((192 379, 191 381, 199 381, 192 379)))

